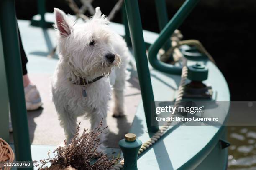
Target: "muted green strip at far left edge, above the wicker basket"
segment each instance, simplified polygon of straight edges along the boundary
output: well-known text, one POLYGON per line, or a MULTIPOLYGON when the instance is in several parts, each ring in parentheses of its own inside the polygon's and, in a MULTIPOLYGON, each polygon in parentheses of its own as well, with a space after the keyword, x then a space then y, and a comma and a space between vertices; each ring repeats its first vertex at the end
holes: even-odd
POLYGON ((9 143, 9 99, 4 63, 5 61, 3 58, 3 43, 0 34, 0 138, 9 143))

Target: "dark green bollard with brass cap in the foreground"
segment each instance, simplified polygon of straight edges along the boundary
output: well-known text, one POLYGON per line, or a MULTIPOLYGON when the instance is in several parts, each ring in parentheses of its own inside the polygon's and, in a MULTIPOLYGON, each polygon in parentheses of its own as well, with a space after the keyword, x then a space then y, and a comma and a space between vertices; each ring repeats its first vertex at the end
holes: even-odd
POLYGON ((136 140, 136 135, 133 133, 127 133, 125 139, 119 141, 118 145, 120 146, 123 152, 124 158, 124 167, 123 170, 138 170, 137 168, 137 158, 138 151, 141 148, 141 140, 136 140))

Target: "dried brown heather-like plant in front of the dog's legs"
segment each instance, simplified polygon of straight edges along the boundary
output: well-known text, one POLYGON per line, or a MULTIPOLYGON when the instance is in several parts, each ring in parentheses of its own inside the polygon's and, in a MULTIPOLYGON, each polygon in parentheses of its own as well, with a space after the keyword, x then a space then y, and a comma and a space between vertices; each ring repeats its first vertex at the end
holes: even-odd
MULTIPOLYGON (((107 128, 107 127, 105 127, 107 128)), ((121 158, 109 159, 107 155, 103 154, 100 158, 92 163, 95 159, 95 155, 99 155, 96 149, 100 145, 99 135, 105 128, 102 128, 102 121, 98 128, 87 132, 84 132, 79 137, 80 123, 77 127, 74 138, 71 140, 70 144, 64 141, 64 146, 59 146, 53 152, 55 153, 54 158, 48 158, 40 161, 34 161, 36 167, 43 170, 55 170, 55 169, 65 169, 65 170, 108 170, 115 163, 117 163, 121 158), (51 163, 48 168, 43 168, 47 163, 51 163)), ((50 152, 48 152, 49 156, 50 152)))

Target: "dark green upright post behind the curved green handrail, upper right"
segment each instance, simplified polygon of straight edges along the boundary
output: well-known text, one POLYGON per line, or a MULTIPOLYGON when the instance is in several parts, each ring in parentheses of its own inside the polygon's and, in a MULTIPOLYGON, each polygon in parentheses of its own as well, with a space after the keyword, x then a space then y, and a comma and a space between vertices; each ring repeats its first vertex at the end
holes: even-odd
MULTIPOLYGON (((156 5, 156 14, 160 32, 164 29, 165 25, 168 23, 168 14, 166 9, 166 2, 165 0, 155 0, 156 5)), ((164 45, 164 50, 167 51, 171 47, 171 40, 168 39, 164 45)), ((172 56, 171 60, 173 60, 172 56)))

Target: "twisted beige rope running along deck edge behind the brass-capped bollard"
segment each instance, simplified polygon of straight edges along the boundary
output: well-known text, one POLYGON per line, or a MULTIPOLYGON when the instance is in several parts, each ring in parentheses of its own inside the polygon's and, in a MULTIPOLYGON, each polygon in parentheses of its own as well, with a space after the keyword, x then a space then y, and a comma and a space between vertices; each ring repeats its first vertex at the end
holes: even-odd
MULTIPOLYGON (((182 100, 182 96, 184 95, 184 89, 185 89, 185 84, 187 80, 187 59, 183 57, 183 62, 182 62, 182 75, 181 75, 181 80, 178 88, 178 95, 174 103, 174 107, 179 105, 180 101, 182 100)), ((151 145, 154 145, 163 135, 166 133, 166 131, 169 129, 169 126, 171 125, 172 121, 168 121, 165 123, 164 126, 162 126, 158 132, 156 132, 148 141, 143 143, 141 145, 141 148, 138 152, 138 155, 143 153, 145 150, 147 150, 151 145)), ((124 160, 121 160, 120 163, 116 164, 110 170, 120 170, 123 168, 124 165, 124 160)))

